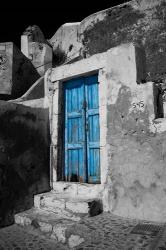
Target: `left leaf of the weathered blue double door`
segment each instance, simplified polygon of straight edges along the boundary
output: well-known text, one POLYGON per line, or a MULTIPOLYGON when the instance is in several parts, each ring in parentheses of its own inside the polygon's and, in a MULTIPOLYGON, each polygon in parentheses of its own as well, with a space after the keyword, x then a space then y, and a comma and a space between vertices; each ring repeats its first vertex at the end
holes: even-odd
POLYGON ((65 84, 65 180, 85 182, 85 111, 82 79, 65 84))

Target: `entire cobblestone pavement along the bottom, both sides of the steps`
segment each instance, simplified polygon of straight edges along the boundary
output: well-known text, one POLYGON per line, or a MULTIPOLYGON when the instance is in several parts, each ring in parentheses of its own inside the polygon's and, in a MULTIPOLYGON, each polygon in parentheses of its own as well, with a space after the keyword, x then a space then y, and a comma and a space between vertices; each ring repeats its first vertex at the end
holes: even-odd
MULTIPOLYGON (((79 236, 83 241, 76 250, 166 250, 166 229, 157 235, 133 234, 131 231, 137 224, 136 220, 104 213, 76 223, 66 236, 68 239, 71 235, 79 236)), ((36 234, 30 228, 12 225, 0 229, 0 250, 8 249, 67 250, 69 246, 36 234)))

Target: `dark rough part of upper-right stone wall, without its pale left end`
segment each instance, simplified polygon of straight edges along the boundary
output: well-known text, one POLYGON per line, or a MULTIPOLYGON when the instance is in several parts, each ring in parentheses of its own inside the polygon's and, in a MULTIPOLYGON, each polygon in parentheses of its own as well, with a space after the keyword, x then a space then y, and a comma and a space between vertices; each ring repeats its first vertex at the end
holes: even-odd
POLYGON ((165 0, 141 0, 103 11, 102 20, 87 18, 82 24, 83 53, 93 55, 126 42, 140 44, 147 59, 144 80, 161 81, 166 71, 165 14, 165 0))

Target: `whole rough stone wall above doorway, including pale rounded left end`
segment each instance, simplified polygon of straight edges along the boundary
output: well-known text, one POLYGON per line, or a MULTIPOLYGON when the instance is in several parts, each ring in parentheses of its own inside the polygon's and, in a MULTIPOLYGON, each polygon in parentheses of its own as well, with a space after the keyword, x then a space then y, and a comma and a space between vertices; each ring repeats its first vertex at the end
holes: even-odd
POLYGON ((86 58, 122 43, 132 42, 142 46, 145 51, 146 75, 142 81, 165 81, 165 16, 165 0, 133 0, 94 13, 72 27, 63 25, 50 39, 55 63, 58 58, 57 64, 60 65, 69 59, 86 58), (76 27, 77 32, 72 33, 68 43, 67 34, 73 27, 76 27), (70 50, 74 51, 72 56, 70 50))

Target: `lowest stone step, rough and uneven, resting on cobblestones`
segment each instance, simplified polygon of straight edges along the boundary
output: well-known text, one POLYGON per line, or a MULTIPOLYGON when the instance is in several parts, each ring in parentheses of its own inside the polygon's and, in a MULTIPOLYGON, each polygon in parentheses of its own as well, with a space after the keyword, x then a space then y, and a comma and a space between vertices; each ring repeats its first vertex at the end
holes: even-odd
POLYGON ((59 214, 50 211, 32 208, 16 214, 15 223, 24 227, 31 226, 32 230, 38 230, 46 237, 64 244, 67 241, 66 230, 76 222, 72 219, 60 217, 59 214))

